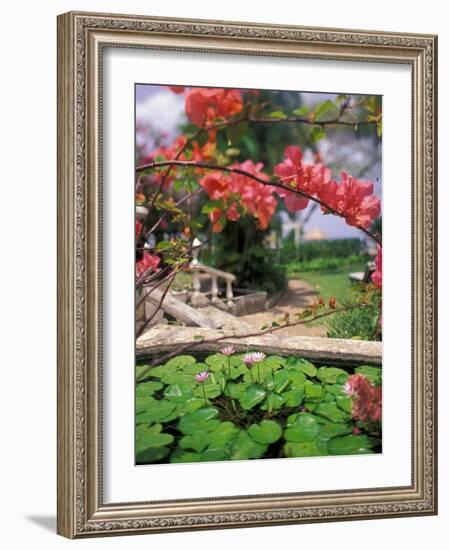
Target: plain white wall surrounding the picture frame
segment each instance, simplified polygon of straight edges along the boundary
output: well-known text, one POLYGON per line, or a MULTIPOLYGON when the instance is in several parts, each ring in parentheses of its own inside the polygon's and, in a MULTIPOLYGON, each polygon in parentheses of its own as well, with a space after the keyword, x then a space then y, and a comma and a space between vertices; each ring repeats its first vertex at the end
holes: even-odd
POLYGON ((70 542, 54 534, 56 471, 56 15, 69 10, 138 13, 315 26, 428 32, 440 35, 440 205, 448 204, 449 30, 438 0, 318 3, 139 2, 137 0, 10 1, 2 5, 0 34, 0 312, 2 314, 0 485, 4 548, 147 548, 182 545, 268 549, 447 547, 449 534, 448 329, 445 285, 449 216, 440 227, 440 515, 70 542), (257 6, 257 7, 256 7, 257 6), (28 221, 24 223, 24 216, 28 221), (5 254, 6 251, 6 254, 5 254), (8 540, 6 540, 8 539, 8 540), (9 540, 10 539, 10 540, 9 540))

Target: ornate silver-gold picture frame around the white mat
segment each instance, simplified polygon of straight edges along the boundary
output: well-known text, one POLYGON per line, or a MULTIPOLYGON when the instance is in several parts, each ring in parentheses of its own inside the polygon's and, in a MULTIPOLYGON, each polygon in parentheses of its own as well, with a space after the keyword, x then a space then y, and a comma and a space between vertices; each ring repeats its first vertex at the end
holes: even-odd
POLYGON ((58 533, 89 536, 437 513, 437 37, 70 12, 58 17, 58 533), (104 48, 402 64, 412 86, 412 482, 106 503, 103 498, 104 48))

